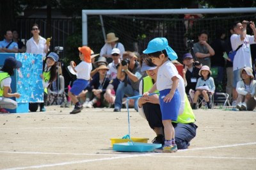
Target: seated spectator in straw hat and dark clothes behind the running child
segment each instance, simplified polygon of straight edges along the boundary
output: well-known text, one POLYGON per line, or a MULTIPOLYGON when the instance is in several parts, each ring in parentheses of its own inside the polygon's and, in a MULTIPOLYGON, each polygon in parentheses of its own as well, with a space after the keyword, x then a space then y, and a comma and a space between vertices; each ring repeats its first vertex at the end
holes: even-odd
POLYGON ((92 108, 95 104, 97 107, 108 106, 104 100, 104 93, 109 84, 109 78, 106 77, 109 68, 106 65, 100 65, 96 70, 97 73, 92 77, 90 86, 86 88, 88 92, 86 93, 86 102, 83 104, 86 108, 92 108), (87 98, 92 98, 92 100, 88 101, 87 98))

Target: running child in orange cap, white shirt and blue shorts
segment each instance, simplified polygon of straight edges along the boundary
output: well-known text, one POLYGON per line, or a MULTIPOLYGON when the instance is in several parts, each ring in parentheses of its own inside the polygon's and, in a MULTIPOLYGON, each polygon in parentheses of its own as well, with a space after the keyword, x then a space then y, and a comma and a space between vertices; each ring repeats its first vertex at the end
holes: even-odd
POLYGON ((83 109, 83 105, 79 103, 76 96, 88 86, 90 81, 90 72, 92 71, 91 49, 83 46, 78 47, 78 50, 81 63, 75 66, 74 61, 70 61, 70 66, 74 72, 77 73, 77 80, 73 82, 72 88, 68 91, 68 97, 70 97, 73 104, 75 104, 75 108, 70 112, 70 114, 77 114, 83 109))

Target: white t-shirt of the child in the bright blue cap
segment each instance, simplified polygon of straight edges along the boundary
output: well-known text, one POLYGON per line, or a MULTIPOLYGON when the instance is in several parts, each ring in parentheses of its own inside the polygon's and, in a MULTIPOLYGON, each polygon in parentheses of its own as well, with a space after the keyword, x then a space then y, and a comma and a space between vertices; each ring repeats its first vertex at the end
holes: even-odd
MULTIPOLYGON (((172 77, 178 77, 179 73, 172 61, 166 61, 159 66, 157 72, 156 88, 158 91, 172 88, 172 77)), ((178 77, 179 78, 179 77, 178 77)))

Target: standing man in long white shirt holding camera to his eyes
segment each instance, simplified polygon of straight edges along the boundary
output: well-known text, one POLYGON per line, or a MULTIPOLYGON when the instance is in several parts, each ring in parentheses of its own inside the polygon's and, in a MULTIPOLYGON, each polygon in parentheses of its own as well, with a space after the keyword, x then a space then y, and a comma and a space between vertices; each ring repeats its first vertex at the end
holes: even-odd
MULTIPOLYGON (((256 28, 254 22, 243 20, 242 23, 239 21, 233 22, 232 30, 234 31, 234 34, 230 37, 232 50, 239 48, 233 61, 233 89, 236 89, 237 82, 241 81, 241 69, 244 68, 244 66, 252 68, 250 44, 256 43, 256 28), (254 36, 246 34, 247 24, 250 24, 254 36)), ((237 92, 235 93, 236 94, 233 96, 234 100, 237 98, 237 92)))

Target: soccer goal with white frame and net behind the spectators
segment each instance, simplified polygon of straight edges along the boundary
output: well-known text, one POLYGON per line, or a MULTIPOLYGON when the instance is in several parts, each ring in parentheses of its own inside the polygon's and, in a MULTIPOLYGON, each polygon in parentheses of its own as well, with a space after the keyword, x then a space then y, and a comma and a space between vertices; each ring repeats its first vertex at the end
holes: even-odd
POLYGON ((141 53, 152 38, 161 36, 168 39, 181 58, 189 50, 188 42, 192 42, 189 40, 198 41, 200 31, 208 31, 209 42, 216 37, 218 27, 223 27, 228 37, 234 20, 256 21, 255 13, 256 8, 83 10, 83 45, 89 45, 99 52, 106 34, 113 32, 124 44, 125 50, 141 53))

